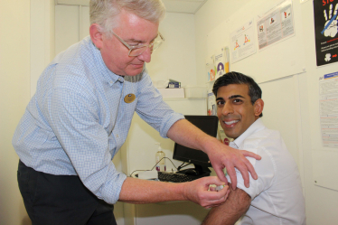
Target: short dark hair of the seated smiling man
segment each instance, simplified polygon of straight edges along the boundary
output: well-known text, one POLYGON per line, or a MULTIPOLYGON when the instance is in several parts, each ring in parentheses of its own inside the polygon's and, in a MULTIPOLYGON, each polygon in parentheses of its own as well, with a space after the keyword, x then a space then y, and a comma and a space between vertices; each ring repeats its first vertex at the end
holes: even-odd
MULTIPOLYGON (((212 92, 217 98, 217 91, 223 87, 230 84, 246 84, 249 88, 249 97, 251 98, 252 105, 255 102, 262 98, 262 90, 259 88, 258 84, 247 75, 244 75, 239 72, 228 72, 221 76, 219 79, 215 81, 213 84, 212 92)), ((259 115, 259 117, 263 117, 263 113, 259 115)))

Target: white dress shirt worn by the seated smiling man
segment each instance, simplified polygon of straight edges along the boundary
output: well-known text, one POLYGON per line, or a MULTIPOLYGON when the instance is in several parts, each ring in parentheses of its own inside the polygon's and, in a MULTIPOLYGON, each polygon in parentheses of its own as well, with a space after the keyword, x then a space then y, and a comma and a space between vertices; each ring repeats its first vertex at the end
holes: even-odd
MULTIPOLYGON (((305 225, 305 200, 298 168, 279 132, 269 130, 258 118, 230 146, 262 157, 261 160, 248 157, 258 173, 258 180, 250 177, 249 188, 236 170, 237 187, 251 197, 249 210, 238 224, 305 225)), ((229 176, 227 179, 230 181, 229 176)))

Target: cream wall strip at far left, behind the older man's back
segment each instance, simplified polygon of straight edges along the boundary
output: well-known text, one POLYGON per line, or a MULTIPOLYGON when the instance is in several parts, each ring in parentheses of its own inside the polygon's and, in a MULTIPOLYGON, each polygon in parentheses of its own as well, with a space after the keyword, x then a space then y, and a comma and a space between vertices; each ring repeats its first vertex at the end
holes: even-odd
POLYGON ((0 224, 28 225, 12 136, 30 99, 30 1, 0 5, 0 224))

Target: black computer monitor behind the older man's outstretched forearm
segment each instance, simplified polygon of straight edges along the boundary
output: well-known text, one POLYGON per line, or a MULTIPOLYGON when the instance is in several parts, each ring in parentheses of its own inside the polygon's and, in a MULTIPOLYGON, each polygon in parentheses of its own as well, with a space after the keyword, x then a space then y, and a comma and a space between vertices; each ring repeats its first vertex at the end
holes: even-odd
MULTIPOLYGON (((217 128, 219 119, 216 116, 184 116, 194 126, 199 127, 204 133, 210 136, 217 136, 217 128)), ((187 169, 179 171, 178 173, 185 173, 189 175, 208 176, 211 171, 211 163, 208 155, 196 149, 192 149, 177 143, 174 144, 174 155, 176 160, 185 163, 194 164, 194 169, 187 169)))

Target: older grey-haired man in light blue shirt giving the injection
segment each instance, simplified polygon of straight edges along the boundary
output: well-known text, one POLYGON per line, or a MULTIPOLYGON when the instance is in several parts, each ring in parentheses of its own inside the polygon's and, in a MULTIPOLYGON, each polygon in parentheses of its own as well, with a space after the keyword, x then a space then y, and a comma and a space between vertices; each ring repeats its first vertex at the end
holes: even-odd
POLYGON ((205 208, 220 205, 228 190, 227 167, 246 184, 257 179, 247 151, 221 145, 175 113, 147 74, 164 37, 161 0, 90 1, 90 37, 61 52, 42 72, 36 94, 14 133, 20 157, 18 183, 33 224, 116 224, 117 201, 150 203, 187 200, 205 208), (117 172, 112 158, 127 138, 136 112, 163 137, 209 155, 217 177, 191 183, 155 183, 117 172))

